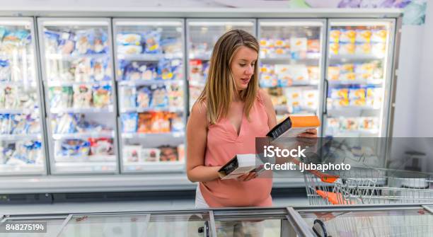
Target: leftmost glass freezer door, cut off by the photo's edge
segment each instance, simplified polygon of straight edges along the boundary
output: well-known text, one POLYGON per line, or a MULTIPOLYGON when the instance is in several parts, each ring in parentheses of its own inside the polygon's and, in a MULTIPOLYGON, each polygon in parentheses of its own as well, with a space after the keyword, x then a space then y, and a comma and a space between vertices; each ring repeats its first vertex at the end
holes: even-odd
POLYGON ((0 175, 47 173, 33 25, 0 18, 0 175))

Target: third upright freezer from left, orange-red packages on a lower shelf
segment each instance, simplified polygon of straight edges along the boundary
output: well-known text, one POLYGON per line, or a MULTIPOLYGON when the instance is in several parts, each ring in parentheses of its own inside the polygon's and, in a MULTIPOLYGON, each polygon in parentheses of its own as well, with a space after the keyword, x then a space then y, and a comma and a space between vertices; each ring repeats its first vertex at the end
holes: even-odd
POLYGON ((185 169, 183 19, 114 19, 122 172, 185 169))

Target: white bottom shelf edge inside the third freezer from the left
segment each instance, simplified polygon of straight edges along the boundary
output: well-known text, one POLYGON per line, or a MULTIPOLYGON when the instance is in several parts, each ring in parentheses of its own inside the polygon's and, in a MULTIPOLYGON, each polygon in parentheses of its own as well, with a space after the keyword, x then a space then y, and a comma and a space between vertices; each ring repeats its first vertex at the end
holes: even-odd
POLYGON ((134 172, 161 172, 161 171, 183 171, 185 162, 124 162, 123 170, 127 173, 134 172))

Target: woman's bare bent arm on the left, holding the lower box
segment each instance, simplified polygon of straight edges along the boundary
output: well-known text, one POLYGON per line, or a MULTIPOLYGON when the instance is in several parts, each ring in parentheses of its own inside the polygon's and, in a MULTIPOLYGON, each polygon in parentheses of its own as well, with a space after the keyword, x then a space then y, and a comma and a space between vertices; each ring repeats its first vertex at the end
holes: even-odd
POLYGON ((187 122, 187 177, 191 182, 206 182, 219 178, 221 166, 204 166, 207 144, 207 115, 202 103, 195 103, 187 122))

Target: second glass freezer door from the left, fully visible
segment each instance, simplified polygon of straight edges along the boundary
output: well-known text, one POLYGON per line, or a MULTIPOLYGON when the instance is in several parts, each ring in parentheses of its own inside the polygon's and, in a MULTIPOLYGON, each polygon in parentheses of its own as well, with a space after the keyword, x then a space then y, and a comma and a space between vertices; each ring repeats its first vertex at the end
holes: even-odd
POLYGON ((52 173, 115 173, 110 20, 38 24, 52 173))

